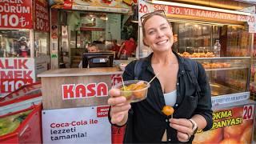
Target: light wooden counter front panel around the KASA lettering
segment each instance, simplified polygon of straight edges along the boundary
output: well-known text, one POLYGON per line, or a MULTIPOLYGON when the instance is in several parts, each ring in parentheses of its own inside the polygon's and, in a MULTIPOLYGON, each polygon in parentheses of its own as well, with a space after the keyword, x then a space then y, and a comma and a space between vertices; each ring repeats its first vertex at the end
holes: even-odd
POLYGON ((88 75, 75 77, 43 77, 42 78, 42 103, 43 109, 71 108, 79 106, 106 105, 109 97, 77 98, 62 100, 63 84, 89 84, 106 82, 111 88, 111 75, 88 75))

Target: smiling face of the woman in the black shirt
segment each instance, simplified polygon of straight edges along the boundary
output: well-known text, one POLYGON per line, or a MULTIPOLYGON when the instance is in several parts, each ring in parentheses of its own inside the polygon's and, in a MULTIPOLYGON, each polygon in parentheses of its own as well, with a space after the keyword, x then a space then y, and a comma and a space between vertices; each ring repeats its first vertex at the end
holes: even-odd
POLYGON ((171 49, 174 36, 169 22, 159 15, 147 19, 144 25, 145 35, 143 41, 154 52, 163 52, 171 49))

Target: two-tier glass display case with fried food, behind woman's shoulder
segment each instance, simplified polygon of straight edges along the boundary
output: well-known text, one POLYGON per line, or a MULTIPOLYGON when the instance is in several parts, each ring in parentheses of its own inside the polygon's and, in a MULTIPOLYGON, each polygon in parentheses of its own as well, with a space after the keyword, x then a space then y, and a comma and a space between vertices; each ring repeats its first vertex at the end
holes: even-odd
POLYGON ((182 57, 202 63, 210 81, 213 104, 250 97, 250 51, 253 38, 247 26, 186 22, 172 22, 172 26, 174 34, 178 35, 173 50, 182 57))

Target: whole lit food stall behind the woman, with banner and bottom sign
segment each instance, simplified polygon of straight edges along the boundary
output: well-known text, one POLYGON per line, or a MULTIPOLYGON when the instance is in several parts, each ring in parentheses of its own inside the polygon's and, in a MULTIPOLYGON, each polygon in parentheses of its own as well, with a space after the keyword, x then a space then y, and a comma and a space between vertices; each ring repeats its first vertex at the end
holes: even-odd
MULTIPOLYGON (((214 126, 207 132, 198 131, 194 143, 250 143, 253 140, 255 111, 255 102, 250 100, 250 64, 254 46, 254 30, 251 30, 254 27, 250 18, 254 18, 254 14, 238 12, 238 8, 230 9, 231 5, 235 5, 233 1, 222 3, 229 10, 214 3, 222 2, 138 1, 138 19, 143 14, 164 10, 174 33, 172 49, 184 58, 202 63, 206 70, 210 81, 214 126), (213 5, 209 6, 210 3, 213 5), (246 115, 248 108, 249 115, 253 116, 250 120, 246 115), (239 133, 236 135, 234 131, 239 133), (214 133, 219 135, 213 141, 207 139, 212 138, 214 133)), ((238 2, 237 6, 242 4, 238 2)), ((141 22, 138 24, 139 56, 142 57, 150 54, 150 48, 143 45, 141 22)))

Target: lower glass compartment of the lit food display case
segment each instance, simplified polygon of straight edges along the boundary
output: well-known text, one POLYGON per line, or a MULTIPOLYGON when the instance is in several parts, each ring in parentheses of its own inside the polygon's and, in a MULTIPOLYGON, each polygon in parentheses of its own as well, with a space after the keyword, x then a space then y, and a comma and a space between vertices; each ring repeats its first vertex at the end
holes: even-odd
POLYGON ((193 58, 202 63, 212 97, 244 93, 250 79, 250 57, 193 58))

